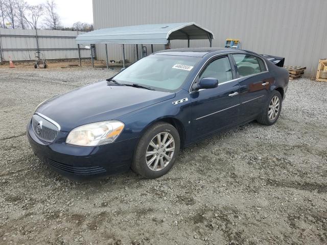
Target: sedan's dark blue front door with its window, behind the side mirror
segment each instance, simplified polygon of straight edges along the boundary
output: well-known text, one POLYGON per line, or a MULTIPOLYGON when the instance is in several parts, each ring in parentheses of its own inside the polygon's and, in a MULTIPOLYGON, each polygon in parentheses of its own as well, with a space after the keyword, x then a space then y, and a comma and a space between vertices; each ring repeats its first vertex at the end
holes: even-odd
POLYGON ((233 80, 227 56, 211 61, 200 73, 201 78, 218 79, 218 87, 200 89, 190 94, 192 102, 192 140, 218 133, 238 123, 240 86, 233 80))

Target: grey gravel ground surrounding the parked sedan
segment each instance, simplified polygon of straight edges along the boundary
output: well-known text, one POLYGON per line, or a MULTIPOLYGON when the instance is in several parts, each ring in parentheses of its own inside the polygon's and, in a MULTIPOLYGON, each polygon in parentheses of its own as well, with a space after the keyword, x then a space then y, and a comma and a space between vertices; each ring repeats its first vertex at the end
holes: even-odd
POLYGON ((76 183, 33 155, 45 99, 110 77, 0 69, 0 244, 326 244, 327 84, 290 81, 281 117, 184 149, 164 177, 76 183))

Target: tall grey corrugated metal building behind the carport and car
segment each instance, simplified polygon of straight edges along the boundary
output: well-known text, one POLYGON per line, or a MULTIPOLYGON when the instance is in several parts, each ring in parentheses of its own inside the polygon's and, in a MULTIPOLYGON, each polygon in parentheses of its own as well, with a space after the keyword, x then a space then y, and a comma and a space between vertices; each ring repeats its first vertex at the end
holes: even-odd
MULTIPOLYGON (((285 57, 285 65, 306 66, 311 77, 319 59, 327 58, 326 13, 326 0, 93 0, 95 29, 194 21, 213 31, 213 46, 240 39, 244 49, 285 57)), ((184 40, 171 42, 172 48, 186 46, 184 40)), ((209 42, 191 40, 191 47, 198 46, 209 42)), ((154 45, 155 51, 163 48, 154 45)), ((125 51, 134 61, 134 45, 125 51)), ((121 45, 109 44, 108 53, 109 59, 122 59, 121 45)), ((97 45, 97 57, 105 59, 103 44, 97 45)))

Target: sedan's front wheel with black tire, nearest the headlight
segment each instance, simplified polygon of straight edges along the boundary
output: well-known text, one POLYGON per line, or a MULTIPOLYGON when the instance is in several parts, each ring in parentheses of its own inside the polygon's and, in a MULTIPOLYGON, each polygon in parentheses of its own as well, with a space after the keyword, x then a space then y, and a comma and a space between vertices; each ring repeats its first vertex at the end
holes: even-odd
POLYGON ((157 122, 139 140, 131 167, 147 179, 161 177, 173 167, 179 149, 176 128, 166 122, 157 122))

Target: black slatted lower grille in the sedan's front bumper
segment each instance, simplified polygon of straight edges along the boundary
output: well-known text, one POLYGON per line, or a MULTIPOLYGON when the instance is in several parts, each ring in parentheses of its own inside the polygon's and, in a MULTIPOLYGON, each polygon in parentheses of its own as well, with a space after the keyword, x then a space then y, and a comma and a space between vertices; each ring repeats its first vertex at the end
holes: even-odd
POLYGON ((75 167, 51 159, 47 159, 46 162, 48 162, 51 166, 59 170, 66 171, 67 173, 74 174, 74 175, 97 175, 106 172, 106 169, 100 166, 75 167))

